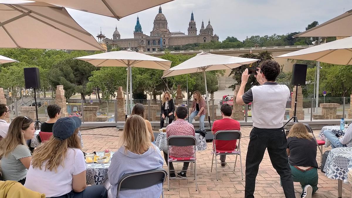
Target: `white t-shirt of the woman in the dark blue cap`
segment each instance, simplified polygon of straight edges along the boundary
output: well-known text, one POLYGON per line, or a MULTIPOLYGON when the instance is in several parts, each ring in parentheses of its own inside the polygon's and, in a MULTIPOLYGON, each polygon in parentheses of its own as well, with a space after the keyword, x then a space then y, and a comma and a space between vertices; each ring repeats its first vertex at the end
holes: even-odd
POLYGON ((80 149, 69 148, 63 163, 55 170, 44 171, 38 167, 33 169, 31 165, 28 169, 25 187, 32 191, 44 193, 46 197, 58 197, 72 191, 72 175, 77 175, 86 170, 86 161, 80 149))

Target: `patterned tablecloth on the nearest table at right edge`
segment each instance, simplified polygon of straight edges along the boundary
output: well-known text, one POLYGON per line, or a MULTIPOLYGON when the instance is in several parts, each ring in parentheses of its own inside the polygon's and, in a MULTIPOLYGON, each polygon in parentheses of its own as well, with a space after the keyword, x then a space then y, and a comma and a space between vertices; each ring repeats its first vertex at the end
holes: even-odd
POLYGON ((350 169, 352 169, 352 147, 331 149, 323 169, 326 177, 346 182, 350 169))

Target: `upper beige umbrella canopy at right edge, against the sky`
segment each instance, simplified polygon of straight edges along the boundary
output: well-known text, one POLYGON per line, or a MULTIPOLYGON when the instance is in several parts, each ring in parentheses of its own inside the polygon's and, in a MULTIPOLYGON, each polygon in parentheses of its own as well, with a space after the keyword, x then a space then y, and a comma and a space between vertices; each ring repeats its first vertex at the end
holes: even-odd
POLYGON ((315 26, 307 31, 301 32, 295 37, 333 37, 333 36, 352 36, 352 10, 347 11, 340 16, 326 21, 323 24, 315 26))

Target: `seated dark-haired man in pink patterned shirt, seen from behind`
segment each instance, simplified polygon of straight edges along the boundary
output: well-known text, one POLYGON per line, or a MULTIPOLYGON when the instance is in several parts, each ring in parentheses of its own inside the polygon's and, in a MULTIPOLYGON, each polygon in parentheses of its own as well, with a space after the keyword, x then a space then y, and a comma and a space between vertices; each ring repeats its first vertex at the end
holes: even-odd
MULTIPOLYGON (((188 123, 187 120, 184 120, 187 117, 188 109, 185 106, 178 106, 175 111, 176 121, 166 126, 166 138, 173 135, 189 135, 195 136, 194 126, 193 124, 188 123)), ((164 147, 164 158, 166 164, 168 162, 168 148, 164 147)), ((194 155, 194 146, 187 147, 176 147, 170 146, 169 155, 173 157, 191 157, 194 155)), ((172 162, 169 163, 170 175, 169 178, 175 178, 175 169, 172 165, 172 162)), ((189 162, 183 162, 182 171, 177 173, 177 176, 180 178, 186 178, 187 169, 189 166, 189 162)))

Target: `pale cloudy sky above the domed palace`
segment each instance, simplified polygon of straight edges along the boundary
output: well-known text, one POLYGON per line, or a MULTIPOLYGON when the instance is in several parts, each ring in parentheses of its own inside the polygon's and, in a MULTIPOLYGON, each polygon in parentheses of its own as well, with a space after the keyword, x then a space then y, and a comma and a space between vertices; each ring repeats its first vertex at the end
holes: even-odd
MULTIPOLYGON (((137 15, 143 33, 150 35, 153 20, 159 6, 132 14, 120 21, 68 9, 72 17, 93 36, 102 33, 108 38, 117 25, 122 38, 133 38, 137 15)), ((210 22, 214 33, 220 41, 227 36, 237 37, 240 41, 246 36, 286 34, 304 31, 308 24, 318 21, 319 24, 352 9, 351 0, 175 0, 162 5, 162 11, 168 20, 170 31, 181 31, 187 34, 190 15, 193 10, 199 33, 202 20, 205 26, 210 22)))

